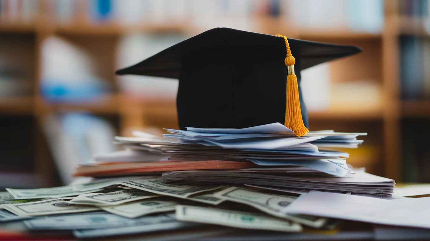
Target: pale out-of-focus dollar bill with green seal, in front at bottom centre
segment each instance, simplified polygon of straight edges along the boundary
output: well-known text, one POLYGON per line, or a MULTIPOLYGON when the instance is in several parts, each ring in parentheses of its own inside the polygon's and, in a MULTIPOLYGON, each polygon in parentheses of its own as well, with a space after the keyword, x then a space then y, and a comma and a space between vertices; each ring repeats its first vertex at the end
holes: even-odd
POLYGON ((264 213, 249 213, 211 207, 176 206, 176 219, 187 222, 217 224, 241 229, 260 229, 280 232, 300 232, 301 225, 264 213))

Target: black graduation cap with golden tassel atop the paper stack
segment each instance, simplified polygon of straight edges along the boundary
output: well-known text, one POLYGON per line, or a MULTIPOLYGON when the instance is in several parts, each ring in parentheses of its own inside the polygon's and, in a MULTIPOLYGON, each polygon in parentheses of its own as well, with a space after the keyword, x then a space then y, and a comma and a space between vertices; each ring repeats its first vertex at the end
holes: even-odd
POLYGON ((279 122, 303 136, 308 121, 300 70, 359 52, 356 46, 214 28, 116 74, 179 79, 181 130, 279 122))

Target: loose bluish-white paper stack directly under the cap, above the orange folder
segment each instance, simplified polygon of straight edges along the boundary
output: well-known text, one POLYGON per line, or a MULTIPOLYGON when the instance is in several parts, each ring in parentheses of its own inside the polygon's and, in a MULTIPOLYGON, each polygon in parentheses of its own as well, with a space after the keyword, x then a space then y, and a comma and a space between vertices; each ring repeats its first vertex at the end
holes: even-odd
MULTIPOLYGON (((343 158, 349 154, 327 148, 356 148, 362 143, 356 137, 366 135, 326 130, 297 137, 280 123, 243 129, 188 127, 187 130, 167 130, 172 134, 165 134, 165 139, 137 132, 136 137, 116 139, 132 149, 163 151, 166 158, 160 161, 198 161, 201 164, 214 160, 252 162, 260 168, 306 167, 332 176, 344 176, 350 170, 343 158)), ((202 169, 206 168, 192 170, 202 169)), ((92 174, 89 171, 85 176, 92 174)))

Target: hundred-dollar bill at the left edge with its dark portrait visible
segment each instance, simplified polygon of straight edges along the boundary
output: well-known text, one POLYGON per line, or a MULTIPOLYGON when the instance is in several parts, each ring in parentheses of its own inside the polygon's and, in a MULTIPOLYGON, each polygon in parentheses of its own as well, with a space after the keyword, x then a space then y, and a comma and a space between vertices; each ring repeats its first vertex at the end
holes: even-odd
POLYGON ((100 210, 98 207, 71 204, 68 201, 59 199, 48 199, 28 203, 0 204, 0 207, 18 216, 43 216, 58 213, 80 213, 100 210))

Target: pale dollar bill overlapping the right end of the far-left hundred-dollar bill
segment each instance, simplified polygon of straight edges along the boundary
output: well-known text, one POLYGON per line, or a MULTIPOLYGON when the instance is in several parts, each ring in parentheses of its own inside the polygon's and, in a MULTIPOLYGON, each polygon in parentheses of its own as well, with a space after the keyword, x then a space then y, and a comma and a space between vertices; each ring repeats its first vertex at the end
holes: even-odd
POLYGON ((107 193, 87 193, 73 198, 72 203, 93 204, 97 206, 112 206, 146 198, 160 197, 160 194, 137 189, 119 190, 107 193))

